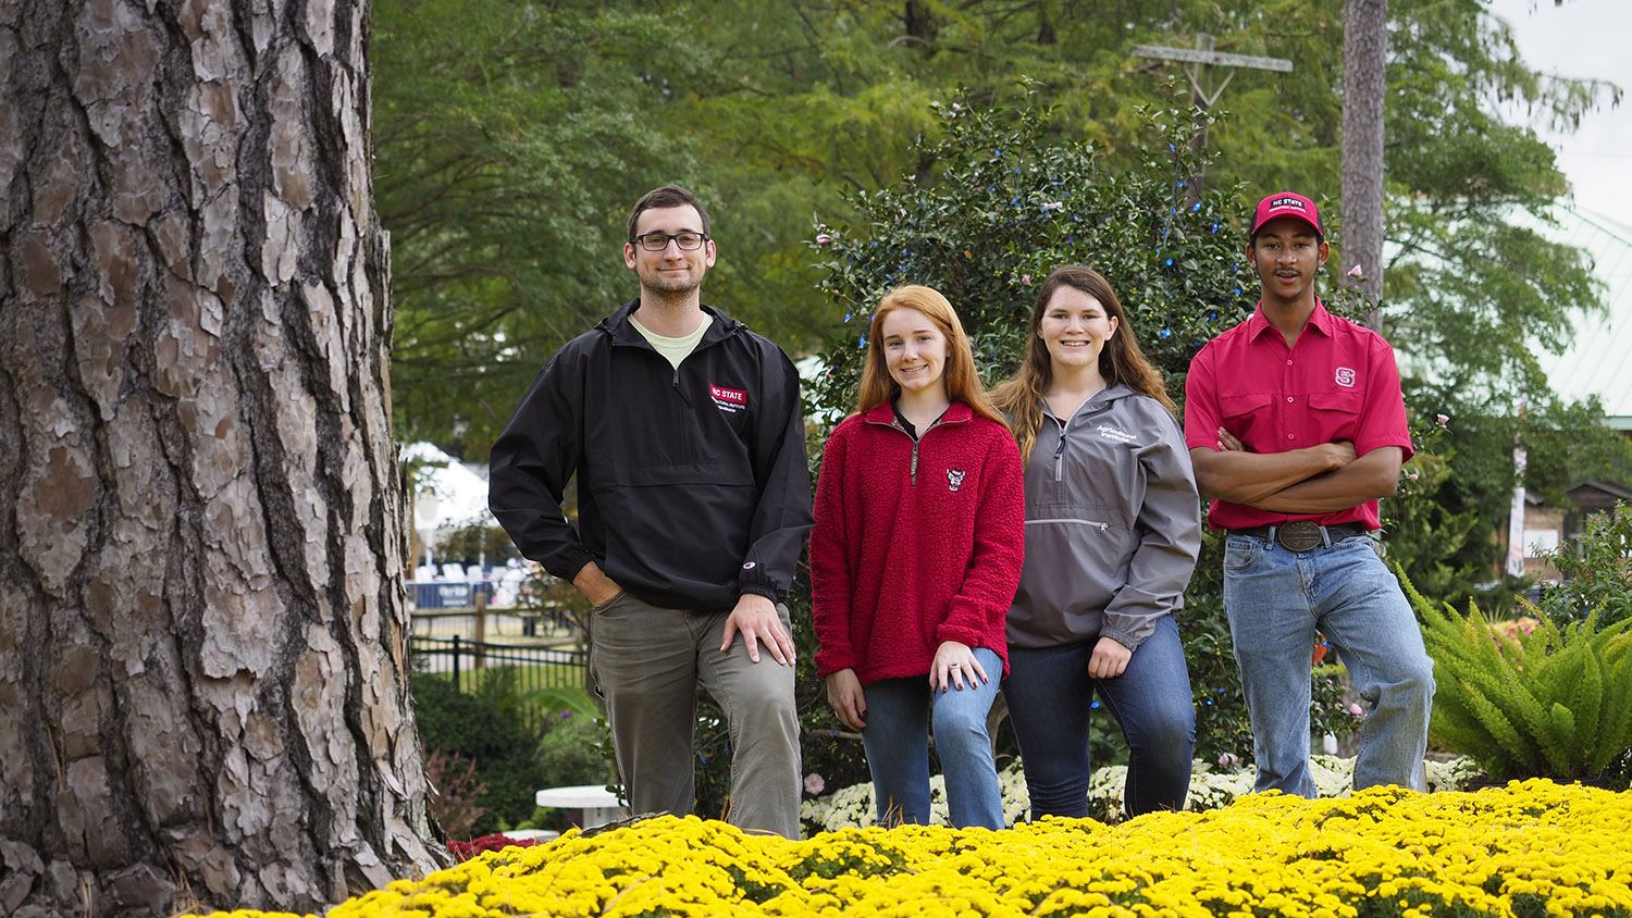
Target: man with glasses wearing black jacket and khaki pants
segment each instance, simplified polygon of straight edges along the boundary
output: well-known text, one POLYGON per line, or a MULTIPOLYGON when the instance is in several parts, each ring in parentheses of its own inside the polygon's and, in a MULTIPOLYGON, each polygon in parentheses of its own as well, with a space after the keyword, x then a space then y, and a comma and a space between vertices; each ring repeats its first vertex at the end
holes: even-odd
POLYGON ((623 264, 640 297, 545 364, 493 445, 488 502, 516 546, 594 603, 633 812, 692 809, 697 685, 731 737, 730 820, 798 838, 793 638, 783 605, 811 527, 798 375, 713 307, 708 214, 646 192, 623 264), (561 515, 578 474, 578 528, 561 515))

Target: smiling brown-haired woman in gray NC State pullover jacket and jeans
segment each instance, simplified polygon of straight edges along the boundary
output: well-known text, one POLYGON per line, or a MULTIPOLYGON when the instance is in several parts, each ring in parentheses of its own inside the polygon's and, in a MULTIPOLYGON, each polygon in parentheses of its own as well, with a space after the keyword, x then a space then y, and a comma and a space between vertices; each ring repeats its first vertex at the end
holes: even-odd
POLYGON ((1201 501, 1162 375, 1105 277, 1066 266, 1043 280, 1025 362, 994 401, 1025 458, 1004 698, 1031 819, 1089 814, 1095 693, 1128 740, 1128 814, 1183 809, 1196 721, 1173 613, 1201 501))

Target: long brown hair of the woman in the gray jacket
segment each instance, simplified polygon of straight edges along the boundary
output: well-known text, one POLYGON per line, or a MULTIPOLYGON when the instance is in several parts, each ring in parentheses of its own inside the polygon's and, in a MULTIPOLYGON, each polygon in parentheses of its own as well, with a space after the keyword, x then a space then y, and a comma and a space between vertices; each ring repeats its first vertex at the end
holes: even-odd
POLYGON ((1162 372, 1151 365, 1139 349, 1133 324, 1128 321, 1128 310, 1123 308, 1110 280, 1092 267, 1066 264, 1056 267, 1036 292, 1036 303, 1031 305, 1031 334, 1025 344, 1025 359, 1020 370, 992 393, 992 401, 1007 413, 1013 422, 1015 444, 1020 445, 1020 458, 1031 458, 1031 447, 1036 445, 1036 432, 1043 427, 1043 393, 1054 382, 1054 367, 1048 355, 1048 342, 1043 341, 1043 313, 1048 302, 1061 287, 1074 287, 1093 297, 1105 308, 1105 315, 1116 320, 1113 334, 1100 351, 1100 375, 1105 385, 1124 385, 1139 395, 1147 395, 1162 403, 1170 414, 1177 416, 1173 399, 1167 396, 1167 383, 1162 372))

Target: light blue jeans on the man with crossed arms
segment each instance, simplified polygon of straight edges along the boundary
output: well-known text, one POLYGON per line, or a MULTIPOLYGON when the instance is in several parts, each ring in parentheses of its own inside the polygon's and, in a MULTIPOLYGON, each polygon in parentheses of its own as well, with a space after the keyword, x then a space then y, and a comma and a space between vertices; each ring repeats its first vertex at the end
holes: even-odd
POLYGON ((1257 536, 1224 541, 1224 611, 1252 716, 1255 789, 1314 797, 1309 652, 1325 634, 1371 713, 1355 788, 1426 789, 1433 660, 1400 584, 1356 535, 1304 553, 1257 536))

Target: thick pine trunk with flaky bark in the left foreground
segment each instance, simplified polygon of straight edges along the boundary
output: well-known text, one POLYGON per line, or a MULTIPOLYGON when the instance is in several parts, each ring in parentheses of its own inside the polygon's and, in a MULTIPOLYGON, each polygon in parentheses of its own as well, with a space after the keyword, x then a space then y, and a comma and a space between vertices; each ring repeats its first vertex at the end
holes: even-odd
POLYGON ((0 913, 436 864, 362 0, 0 5, 0 913))

